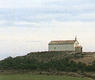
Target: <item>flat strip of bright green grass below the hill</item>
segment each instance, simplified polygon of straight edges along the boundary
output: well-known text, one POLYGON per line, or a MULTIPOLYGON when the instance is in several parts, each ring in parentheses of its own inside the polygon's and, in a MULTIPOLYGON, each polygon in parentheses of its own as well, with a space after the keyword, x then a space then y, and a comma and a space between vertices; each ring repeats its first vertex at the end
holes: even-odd
POLYGON ((33 75, 33 74, 0 74, 0 80, 91 80, 70 76, 33 75))

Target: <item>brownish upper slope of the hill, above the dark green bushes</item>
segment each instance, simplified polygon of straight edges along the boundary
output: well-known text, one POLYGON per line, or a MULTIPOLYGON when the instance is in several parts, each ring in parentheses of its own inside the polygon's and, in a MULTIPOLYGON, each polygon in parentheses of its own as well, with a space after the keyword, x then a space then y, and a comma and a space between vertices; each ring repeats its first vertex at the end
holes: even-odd
MULTIPOLYGON (((82 52, 82 53, 75 53, 71 51, 58 51, 58 52, 30 52, 25 55, 27 58, 36 59, 39 62, 48 62, 51 60, 61 60, 64 58, 68 58, 75 62, 82 62, 87 65, 91 64, 95 60, 95 52, 82 52)), ((25 57, 22 56, 22 57, 25 57)), ((21 56, 20 56, 21 57, 21 56)))

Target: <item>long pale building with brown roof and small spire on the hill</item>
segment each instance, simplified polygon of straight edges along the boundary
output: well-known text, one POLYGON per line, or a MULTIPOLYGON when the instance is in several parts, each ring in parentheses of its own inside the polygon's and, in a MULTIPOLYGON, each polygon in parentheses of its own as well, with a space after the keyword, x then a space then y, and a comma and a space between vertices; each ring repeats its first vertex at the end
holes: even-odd
POLYGON ((75 40, 51 41, 48 44, 49 51, 74 51, 82 52, 82 46, 79 45, 77 38, 75 40))

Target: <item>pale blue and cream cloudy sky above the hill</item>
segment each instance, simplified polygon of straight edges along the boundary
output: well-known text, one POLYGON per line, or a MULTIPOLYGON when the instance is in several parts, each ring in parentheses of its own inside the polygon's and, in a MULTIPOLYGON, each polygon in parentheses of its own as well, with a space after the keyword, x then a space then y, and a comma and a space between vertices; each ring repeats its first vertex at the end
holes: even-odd
POLYGON ((0 0, 0 59, 47 51, 51 40, 77 35, 95 51, 95 0, 0 0))

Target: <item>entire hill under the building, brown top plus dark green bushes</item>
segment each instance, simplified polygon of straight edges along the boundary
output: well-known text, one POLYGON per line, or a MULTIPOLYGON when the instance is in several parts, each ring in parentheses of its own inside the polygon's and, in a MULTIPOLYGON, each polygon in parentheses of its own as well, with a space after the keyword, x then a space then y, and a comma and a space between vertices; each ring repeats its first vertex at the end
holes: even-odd
POLYGON ((0 61, 1 70, 94 72, 95 52, 31 52, 0 61))

